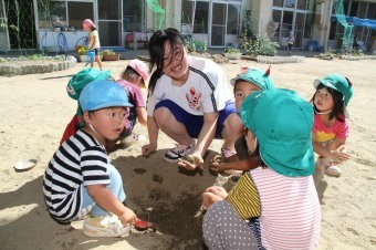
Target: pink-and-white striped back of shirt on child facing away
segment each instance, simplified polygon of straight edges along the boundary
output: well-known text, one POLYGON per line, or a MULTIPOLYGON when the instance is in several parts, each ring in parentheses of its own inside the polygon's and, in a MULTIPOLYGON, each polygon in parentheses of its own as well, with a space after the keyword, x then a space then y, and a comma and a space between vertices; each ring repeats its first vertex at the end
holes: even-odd
POLYGON ((312 176, 286 177, 261 167, 250 174, 261 201, 262 247, 268 250, 315 249, 321 208, 312 176))

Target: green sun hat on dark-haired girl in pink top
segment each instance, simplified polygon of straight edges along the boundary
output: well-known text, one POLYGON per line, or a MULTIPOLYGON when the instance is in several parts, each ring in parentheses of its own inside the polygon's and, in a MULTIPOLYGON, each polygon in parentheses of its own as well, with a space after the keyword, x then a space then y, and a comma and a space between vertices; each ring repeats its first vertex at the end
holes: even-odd
POLYGON ((353 84, 347 79, 340 74, 330 74, 324 79, 317 79, 313 82, 313 86, 317 88, 318 84, 322 83, 326 87, 331 87, 337 92, 340 92, 345 101, 345 106, 348 105, 349 100, 353 96, 353 84))

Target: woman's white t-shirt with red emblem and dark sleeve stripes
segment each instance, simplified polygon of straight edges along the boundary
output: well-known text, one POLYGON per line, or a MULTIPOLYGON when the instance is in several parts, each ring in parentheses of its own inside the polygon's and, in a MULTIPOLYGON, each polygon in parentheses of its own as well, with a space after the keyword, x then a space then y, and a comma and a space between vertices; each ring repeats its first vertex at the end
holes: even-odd
POLYGON ((224 71, 208 59, 188 56, 189 76, 182 86, 175 86, 173 79, 161 75, 147 100, 147 114, 154 116, 155 105, 170 100, 192 115, 219 112, 233 101, 224 71))

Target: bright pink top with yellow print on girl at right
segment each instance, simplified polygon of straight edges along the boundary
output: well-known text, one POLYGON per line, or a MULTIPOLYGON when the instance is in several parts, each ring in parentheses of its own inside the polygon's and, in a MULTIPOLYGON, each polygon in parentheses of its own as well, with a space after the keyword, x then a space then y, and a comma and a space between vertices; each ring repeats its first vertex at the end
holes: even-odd
POLYGON ((345 139, 348 137, 348 122, 345 117, 342 117, 345 122, 335 121, 333 126, 326 127, 324 123, 321 121, 320 115, 314 115, 313 128, 312 133, 316 133, 317 142, 324 143, 338 137, 341 139, 345 139))

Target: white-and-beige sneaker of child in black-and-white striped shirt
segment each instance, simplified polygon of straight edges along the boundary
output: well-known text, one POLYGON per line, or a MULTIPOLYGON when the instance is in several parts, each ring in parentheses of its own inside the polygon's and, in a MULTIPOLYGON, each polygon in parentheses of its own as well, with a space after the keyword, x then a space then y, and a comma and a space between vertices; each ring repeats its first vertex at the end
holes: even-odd
POLYGON ((88 237, 122 237, 129 235, 130 226, 123 226, 117 216, 108 213, 103 217, 86 218, 83 231, 88 237))

